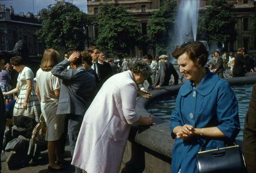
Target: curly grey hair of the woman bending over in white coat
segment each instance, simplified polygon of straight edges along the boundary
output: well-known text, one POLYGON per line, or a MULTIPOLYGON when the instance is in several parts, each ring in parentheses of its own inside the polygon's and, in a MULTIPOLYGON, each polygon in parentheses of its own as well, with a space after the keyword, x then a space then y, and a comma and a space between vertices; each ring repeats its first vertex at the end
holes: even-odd
POLYGON ((148 63, 146 61, 135 61, 130 67, 130 71, 135 74, 142 74, 144 77, 149 77, 153 74, 148 63))

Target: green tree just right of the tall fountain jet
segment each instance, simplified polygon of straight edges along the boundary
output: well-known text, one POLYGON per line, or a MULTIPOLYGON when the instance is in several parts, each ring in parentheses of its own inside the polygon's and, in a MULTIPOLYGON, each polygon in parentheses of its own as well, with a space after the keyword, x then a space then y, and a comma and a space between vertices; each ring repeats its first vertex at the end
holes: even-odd
POLYGON ((198 31, 210 43, 227 43, 236 39, 237 22, 234 5, 226 0, 208 0, 206 13, 199 21, 198 31))

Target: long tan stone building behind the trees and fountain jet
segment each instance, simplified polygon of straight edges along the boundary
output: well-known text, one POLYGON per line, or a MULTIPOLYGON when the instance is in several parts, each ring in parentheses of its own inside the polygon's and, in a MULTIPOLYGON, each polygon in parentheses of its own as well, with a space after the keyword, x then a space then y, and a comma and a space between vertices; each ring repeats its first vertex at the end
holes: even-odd
MULTIPOLYGON (((177 6, 180 0, 173 0, 177 6)), ((236 8, 235 15, 238 22, 236 23, 237 37, 234 43, 225 45, 225 51, 234 51, 238 47, 245 47, 246 49, 255 49, 256 38, 250 35, 250 28, 252 28, 252 20, 255 15, 256 2, 254 0, 227 0, 228 3, 234 4, 236 8)), ((134 20, 140 22, 142 34, 147 34, 147 22, 152 12, 159 10, 163 4, 163 0, 87 0, 88 15, 97 15, 99 13, 98 6, 101 3, 114 3, 124 6, 128 12, 132 13, 134 20)), ((199 16, 204 15, 207 7, 207 0, 200 1, 199 16)), ((89 45, 94 43, 98 35, 96 24, 88 26, 89 45)), ((147 53, 154 54, 153 50, 148 50, 145 47, 132 52, 132 57, 141 57, 147 53)), ((156 53, 157 54, 157 53, 156 53)))

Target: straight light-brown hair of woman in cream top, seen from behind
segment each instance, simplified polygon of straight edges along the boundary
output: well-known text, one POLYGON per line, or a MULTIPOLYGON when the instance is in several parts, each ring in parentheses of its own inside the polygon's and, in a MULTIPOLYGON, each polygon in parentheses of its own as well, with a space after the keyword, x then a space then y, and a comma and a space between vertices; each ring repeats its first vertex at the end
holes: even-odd
POLYGON ((44 51, 44 56, 41 61, 40 68, 42 71, 50 71, 54 65, 58 64, 60 54, 54 49, 47 49, 44 51))

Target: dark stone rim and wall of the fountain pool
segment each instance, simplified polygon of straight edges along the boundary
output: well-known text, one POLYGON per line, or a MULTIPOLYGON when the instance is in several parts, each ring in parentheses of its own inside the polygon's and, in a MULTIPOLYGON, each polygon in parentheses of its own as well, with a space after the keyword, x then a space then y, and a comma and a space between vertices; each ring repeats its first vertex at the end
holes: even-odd
MULTIPOLYGON (((256 83, 256 77, 238 77, 225 79, 231 86, 256 83)), ((136 111, 147 117, 148 103, 165 95, 176 95, 181 85, 161 87, 152 90, 152 97, 137 97, 136 111)), ((122 173, 165 173, 170 172, 172 147, 174 140, 170 136, 169 122, 153 116, 156 123, 150 128, 133 125, 124 152, 122 173), (136 170, 134 170, 136 168, 136 170)), ((242 141, 236 141, 242 145, 242 141)))

